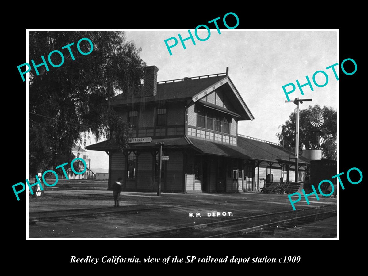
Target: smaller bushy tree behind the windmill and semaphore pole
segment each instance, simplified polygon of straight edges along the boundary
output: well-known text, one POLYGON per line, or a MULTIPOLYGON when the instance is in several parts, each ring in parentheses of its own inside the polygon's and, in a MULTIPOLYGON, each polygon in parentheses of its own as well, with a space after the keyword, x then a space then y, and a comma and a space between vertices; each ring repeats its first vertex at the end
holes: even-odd
MULTIPOLYGON (((289 120, 280 125, 281 132, 277 133, 280 144, 295 151, 295 125, 296 113, 290 114, 289 120)), ((300 110, 299 115, 299 149, 321 149, 322 157, 336 160, 336 110, 332 107, 319 105, 309 106, 300 110), (323 125, 314 127, 310 118, 313 114, 322 113, 323 125)))

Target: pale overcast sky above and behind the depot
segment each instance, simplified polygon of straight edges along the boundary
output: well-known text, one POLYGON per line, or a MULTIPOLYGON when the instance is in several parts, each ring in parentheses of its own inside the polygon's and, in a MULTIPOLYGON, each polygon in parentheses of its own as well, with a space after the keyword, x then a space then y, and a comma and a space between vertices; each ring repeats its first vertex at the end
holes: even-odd
MULTIPOLYGON (((137 47, 142 47, 141 58, 148 66, 159 68, 158 81, 217 74, 229 67, 229 77, 240 92, 255 119, 240 121, 238 133, 277 142, 276 133, 296 107, 284 103, 286 96, 282 86, 307 82, 308 75, 312 82, 315 71, 324 70, 329 77, 326 86, 318 88, 313 82, 314 91, 304 86, 304 96, 298 90, 290 94, 290 99, 311 98, 312 102, 300 105, 305 109, 309 104, 329 106, 337 110, 337 80, 331 69, 326 67, 338 62, 336 50, 336 32, 242 32, 222 30, 218 34, 211 29, 210 38, 193 45, 185 41, 183 49, 178 33, 188 37, 187 31, 168 32, 125 32, 127 40, 133 40, 137 47), (171 48, 170 56, 165 39, 176 37, 178 45, 171 48)), ((207 31, 198 32, 205 38, 207 31)), ((169 42, 169 45, 173 40, 169 42)), ((338 67, 335 67, 339 74, 338 67)), ((318 84, 325 83, 323 74, 316 75, 318 84)), ((286 88, 287 91, 291 86, 286 88)), ((95 139, 88 141, 95 144, 95 139)), ((105 152, 88 151, 91 167, 108 168, 109 159, 105 152)))

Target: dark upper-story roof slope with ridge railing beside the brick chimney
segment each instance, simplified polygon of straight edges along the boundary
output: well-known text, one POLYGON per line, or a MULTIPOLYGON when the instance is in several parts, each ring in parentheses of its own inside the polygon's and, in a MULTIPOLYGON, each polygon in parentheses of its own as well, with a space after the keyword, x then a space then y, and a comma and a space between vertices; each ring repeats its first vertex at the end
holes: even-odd
POLYGON ((134 97, 127 99, 123 93, 110 100, 111 105, 127 105, 140 102, 159 102, 163 100, 191 99, 198 92, 210 87, 227 76, 215 76, 198 79, 187 79, 157 84, 157 95, 151 97, 134 97))

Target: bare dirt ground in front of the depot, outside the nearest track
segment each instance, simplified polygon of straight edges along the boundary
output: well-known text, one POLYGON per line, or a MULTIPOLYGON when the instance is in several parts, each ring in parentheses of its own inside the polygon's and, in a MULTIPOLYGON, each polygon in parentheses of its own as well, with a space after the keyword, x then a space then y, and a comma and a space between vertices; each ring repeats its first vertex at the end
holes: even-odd
MULTIPOLYGON (((29 197, 29 237, 120 237, 170 227, 292 210, 286 194, 254 192, 162 193, 161 197, 156 193, 121 192, 120 207, 114 208, 112 191, 107 191, 105 181, 92 183, 86 190, 75 190, 78 185, 80 184, 73 183, 69 188, 46 187, 45 197, 29 197), (215 216, 212 216, 213 212, 215 216), (218 212, 221 214, 218 215, 218 212)), ((83 186, 85 185, 88 183, 83 183, 83 186)), ((309 197, 309 202, 310 205, 307 205, 302 199, 296 204, 296 208, 336 204, 336 199, 320 197, 317 201, 316 198, 309 197)), ((316 222, 315 227, 310 226, 309 230, 308 227, 303 227, 299 232, 293 229, 292 232, 285 231, 277 235, 330 237, 331 233, 336 233, 336 219, 328 223, 326 231, 323 231, 321 222, 316 222)))

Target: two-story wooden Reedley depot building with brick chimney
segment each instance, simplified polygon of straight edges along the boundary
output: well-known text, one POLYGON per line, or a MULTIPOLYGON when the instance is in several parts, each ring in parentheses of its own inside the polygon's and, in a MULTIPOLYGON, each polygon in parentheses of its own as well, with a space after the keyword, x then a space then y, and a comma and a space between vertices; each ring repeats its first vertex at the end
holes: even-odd
MULTIPOLYGON (((109 141, 87 146, 109 155, 109 184, 123 178, 123 191, 157 191, 159 142, 164 142, 163 192, 236 192, 263 187, 267 174, 294 180, 294 153, 238 134, 238 122, 254 116, 225 73, 157 82, 158 68, 145 68, 143 93, 117 95, 112 108, 129 121, 134 137, 120 152, 109 141), (150 139, 146 139, 150 140, 150 139)), ((300 180, 308 159, 300 158, 300 180)))

